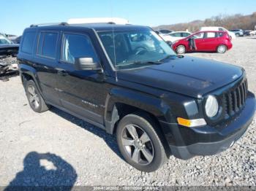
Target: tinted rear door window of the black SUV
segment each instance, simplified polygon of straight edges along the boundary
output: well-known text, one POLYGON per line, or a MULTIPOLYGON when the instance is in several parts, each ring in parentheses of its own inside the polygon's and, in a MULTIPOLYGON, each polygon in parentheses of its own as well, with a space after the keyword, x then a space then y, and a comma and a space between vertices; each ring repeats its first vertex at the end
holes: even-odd
POLYGON ((58 33, 41 32, 39 37, 37 54, 43 57, 56 58, 57 39, 58 33))

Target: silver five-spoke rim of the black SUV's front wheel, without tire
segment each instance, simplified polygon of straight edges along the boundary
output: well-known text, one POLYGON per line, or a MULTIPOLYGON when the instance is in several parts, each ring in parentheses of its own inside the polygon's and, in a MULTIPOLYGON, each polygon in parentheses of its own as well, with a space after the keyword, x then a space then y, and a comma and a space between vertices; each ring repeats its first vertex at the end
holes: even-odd
POLYGON ((140 165, 148 165, 154 159, 154 147, 148 134, 138 125, 125 126, 121 142, 127 155, 140 165))

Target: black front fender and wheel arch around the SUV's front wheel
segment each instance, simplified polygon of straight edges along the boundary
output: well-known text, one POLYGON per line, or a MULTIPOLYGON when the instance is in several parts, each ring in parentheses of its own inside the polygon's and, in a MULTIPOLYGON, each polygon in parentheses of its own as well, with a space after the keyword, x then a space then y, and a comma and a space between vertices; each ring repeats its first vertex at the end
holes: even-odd
POLYGON ((105 128, 107 133, 115 134, 118 122, 127 114, 141 112, 147 114, 156 123, 157 132, 162 136, 165 149, 169 153, 167 147, 167 139, 162 130, 159 121, 168 120, 170 108, 161 101, 161 99, 153 97, 145 93, 138 93, 133 90, 113 89, 108 94, 105 109, 105 128))

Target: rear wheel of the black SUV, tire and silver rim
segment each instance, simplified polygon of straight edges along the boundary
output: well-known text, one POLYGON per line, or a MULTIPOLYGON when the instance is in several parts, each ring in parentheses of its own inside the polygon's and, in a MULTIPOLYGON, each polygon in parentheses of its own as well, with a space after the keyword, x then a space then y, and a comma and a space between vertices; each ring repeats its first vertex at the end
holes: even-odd
POLYGON ((45 104, 42 96, 37 89, 37 85, 33 80, 29 80, 25 84, 26 97, 28 98, 29 105, 34 112, 42 113, 49 109, 49 106, 45 104))

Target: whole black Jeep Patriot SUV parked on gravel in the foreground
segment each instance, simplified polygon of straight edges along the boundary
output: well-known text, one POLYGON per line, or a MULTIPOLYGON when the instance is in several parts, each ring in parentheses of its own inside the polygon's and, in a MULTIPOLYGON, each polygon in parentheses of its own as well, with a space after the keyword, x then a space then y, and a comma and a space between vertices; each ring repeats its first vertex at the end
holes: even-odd
POLYGON ((50 106, 116 134, 121 155, 155 171, 231 147, 255 114, 244 69, 176 55, 151 28, 31 26, 18 53, 31 109, 50 106))

